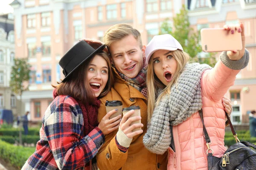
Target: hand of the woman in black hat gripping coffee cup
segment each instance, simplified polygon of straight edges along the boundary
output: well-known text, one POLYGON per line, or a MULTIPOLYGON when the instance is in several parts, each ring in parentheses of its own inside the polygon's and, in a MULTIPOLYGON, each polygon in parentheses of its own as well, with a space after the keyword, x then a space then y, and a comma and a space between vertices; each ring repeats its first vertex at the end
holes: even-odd
POLYGON ((119 114, 118 116, 114 116, 113 119, 110 119, 110 117, 116 113, 117 109, 109 111, 99 122, 98 127, 104 135, 107 135, 108 133, 111 133, 114 130, 118 129, 122 115, 119 114))

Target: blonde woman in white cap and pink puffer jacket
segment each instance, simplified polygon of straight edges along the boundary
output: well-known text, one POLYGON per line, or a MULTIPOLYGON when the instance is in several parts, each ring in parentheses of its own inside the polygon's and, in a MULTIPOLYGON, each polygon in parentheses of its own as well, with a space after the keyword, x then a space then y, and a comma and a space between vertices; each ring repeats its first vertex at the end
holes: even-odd
POLYGON ((198 111, 211 139, 213 156, 225 152, 225 113, 221 98, 245 68, 249 52, 244 26, 225 27, 228 34, 241 32, 243 48, 224 51, 214 68, 189 63, 189 54, 171 35, 157 35, 146 47, 148 63, 148 130, 145 147, 153 153, 169 150, 168 170, 207 170, 207 145, 198 111), (231 29, 231 31, 230 31, 231 29), (233 30, 233 31, 232 31, 233 30))

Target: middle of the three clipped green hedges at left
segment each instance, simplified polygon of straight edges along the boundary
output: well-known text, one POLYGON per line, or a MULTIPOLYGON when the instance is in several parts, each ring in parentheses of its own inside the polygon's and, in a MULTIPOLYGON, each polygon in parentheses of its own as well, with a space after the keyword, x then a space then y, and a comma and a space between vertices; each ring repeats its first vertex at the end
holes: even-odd
MULTIPOLYGON (((27 143, 27 144, 36 144, 40 139, 40 136, 31 136, 31 135, 23 135, 22 136, 22 143, 27 143)), ((10 144, 15 144, 15 141, 20 143, 20 138, 19 136, 0 136, 0 140, 8 142, 10 144)))

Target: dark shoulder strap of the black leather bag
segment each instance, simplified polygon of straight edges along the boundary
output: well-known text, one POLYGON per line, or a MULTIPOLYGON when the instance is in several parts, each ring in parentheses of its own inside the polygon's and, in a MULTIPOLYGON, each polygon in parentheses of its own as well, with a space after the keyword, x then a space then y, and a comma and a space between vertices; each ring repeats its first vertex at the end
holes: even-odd
MULTIPOLYGON (((208 154, 212 154, 212 153, 213 153, 213 150, 210 149, 210 147, 209 147, 209 145, 210 145, 212 142, 211 142, 211 140, 210 140, 210 137, 209 137, 209 135, 208 135, 208 133, 207 133, 207 130, 206 130, 206 127, 205 127, 205 125, 204 125, 204 113, 203 113, 203 108, 201 108, 201 110, 198 111, 198 112, 199 112, 201 121, 202 121, 202 123, 203 123, 204 139, 205 139, 206 144, 207 144, 207 147, 208 147, 207 153, 208 153, 208 154), (212 153, 209 153, 209 152, 208 152, 209 150, 212 150, 212 153)), ((233 127, 233 125, 232 125, 232 123, 231 123, 231 121, 230 121, 230 118, 229 118, 227 112, 225 112, 225 114, 226 114, 226 117, 227 117, 227 121, 229 122, 229 125, 230 125, 231 131, 232 131, 232 133, 233 133, 233 136, 234 136, 234 138, 236 138, 236 143, 237 143, 237 142, 240 142, 239 139, 237 138, 236 130, 234 129, 234 127, 233 127)))

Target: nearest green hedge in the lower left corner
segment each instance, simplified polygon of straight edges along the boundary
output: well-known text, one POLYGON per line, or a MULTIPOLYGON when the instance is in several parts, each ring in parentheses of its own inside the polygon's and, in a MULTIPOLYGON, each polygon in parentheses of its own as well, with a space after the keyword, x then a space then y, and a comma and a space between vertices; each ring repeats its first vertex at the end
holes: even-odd
POLYGON ((25 164, 26 160, 35 152, 34 147, 14 146, 0 140, 0 157, 17 167, 19 170, 25 164))

